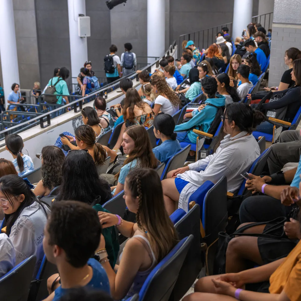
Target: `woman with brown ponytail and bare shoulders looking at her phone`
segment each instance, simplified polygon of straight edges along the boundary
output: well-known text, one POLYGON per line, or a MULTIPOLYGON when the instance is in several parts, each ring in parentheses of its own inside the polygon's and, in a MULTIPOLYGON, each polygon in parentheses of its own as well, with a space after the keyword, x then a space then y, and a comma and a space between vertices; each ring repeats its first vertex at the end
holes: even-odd
POLYGON ((95 132, 91 126, 82 125, 75 129, 75 138, 72 136, 62 137, 61 141, 70 147, 71 150, 84 149, 92 156, 96 166, 102 166, 108 156, 111 157, 111 162, 114 161, 116 153, 107 146, 102 146, 98 142, 95 142, 95 132), (76 141, 77 146, 71 142, 76 141))

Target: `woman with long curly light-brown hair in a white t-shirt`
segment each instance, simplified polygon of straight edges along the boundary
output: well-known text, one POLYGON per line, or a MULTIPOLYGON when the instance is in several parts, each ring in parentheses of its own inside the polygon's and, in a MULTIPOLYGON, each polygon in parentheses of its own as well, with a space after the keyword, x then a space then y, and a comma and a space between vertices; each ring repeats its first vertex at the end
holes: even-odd
POLYGON ((152 75, 151 86, 154 93, 157 93, 155 99, 154 113, 158 114, 160 111, 169 115, 175 114, 179 110, 180 100, 178 96, 171 91, 165 77, 152 75))

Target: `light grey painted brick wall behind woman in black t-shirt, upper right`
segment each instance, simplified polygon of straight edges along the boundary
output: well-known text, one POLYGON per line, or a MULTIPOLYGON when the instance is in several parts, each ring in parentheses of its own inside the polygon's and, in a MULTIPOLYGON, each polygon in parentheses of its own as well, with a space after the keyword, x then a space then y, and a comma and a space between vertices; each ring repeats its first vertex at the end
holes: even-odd
POLYGON ((301 49, 301 25, 273 23, 269 72, 269 87, 278 86, 287 66, 284 54, 288 48, 301 49))

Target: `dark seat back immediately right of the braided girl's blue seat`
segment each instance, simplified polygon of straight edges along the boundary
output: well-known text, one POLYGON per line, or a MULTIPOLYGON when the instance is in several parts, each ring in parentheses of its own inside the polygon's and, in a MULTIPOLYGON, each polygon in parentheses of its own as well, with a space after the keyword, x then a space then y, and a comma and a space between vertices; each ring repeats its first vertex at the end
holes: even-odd
POLYGON ((200 206, 195 205, 188 213, 176 224, 179 239, 193 235, 191 246, 188 250, 182 268, 179 272, 175 287, 172 290, 169 301, 181 300, 185 293, 194 283, 200 273, 202 265, 201 257, 201 234, 200 234, 200 206))

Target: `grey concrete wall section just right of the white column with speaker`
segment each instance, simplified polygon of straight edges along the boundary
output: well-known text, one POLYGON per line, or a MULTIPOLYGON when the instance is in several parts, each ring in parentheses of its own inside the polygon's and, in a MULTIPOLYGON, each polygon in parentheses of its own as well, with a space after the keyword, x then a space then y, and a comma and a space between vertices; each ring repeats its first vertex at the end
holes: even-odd
MULTIPOLYGON (((86 15, 91 20, 91 37, 87 38, 88 60, 92 61, 92 69, 96 70, 96 76, 105 77, 104 56, 109 53, 111 45, 110 10, 105 1, 86 0, 86 15)), ((117 46, 120 56, 123 47, 117 46)))

